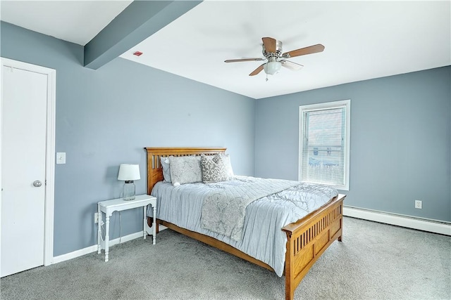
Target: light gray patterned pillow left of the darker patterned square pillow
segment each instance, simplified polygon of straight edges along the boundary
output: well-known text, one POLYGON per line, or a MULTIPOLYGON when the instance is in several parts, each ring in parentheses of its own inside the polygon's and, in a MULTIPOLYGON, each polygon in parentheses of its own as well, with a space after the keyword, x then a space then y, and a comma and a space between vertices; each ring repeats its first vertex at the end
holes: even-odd
POLYGON ((169 164, 173 185, 202 182, 199 156, 170 156, 169 164))

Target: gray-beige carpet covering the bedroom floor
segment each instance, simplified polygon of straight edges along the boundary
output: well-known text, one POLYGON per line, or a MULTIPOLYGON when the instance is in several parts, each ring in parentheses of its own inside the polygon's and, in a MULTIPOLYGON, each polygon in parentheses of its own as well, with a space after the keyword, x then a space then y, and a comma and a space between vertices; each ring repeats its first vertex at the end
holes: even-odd
MULTIPOLYGON (((451 237, 344 219, 295 299, 451 299, 451 237), (333 273, 333 275, 331 274, 333 273)), ((285 278, 172 230, 2 278, 1 299, 283 299, 285 278)))

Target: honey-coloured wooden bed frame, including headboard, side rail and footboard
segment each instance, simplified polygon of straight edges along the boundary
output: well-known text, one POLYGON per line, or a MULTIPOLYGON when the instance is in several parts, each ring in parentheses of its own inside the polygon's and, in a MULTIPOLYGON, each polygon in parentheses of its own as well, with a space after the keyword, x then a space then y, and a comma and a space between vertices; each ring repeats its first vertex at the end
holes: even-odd
MULTIPOLYGON (((144 148, 147 150, 147 193, 150 195, 155 183, 163 180, 160 157, 186 155, 214 155, 226 152, 226 148, 144 148)), ((325 206, 311 212, 295 223, 281 228, 287 237, 285 254, 285 299, 293 299, 295 289, 317 259, 335 240, 342 240, 343 200, 346 195, 338 195, 325 206)), ((150 219, 150 218, 149 218, 150 219)), ((151 219, 152 220, 152 219, 151 219)), ((225 252, 273 270, 263 261, 254 259, 240 250, 201 233, 180 228, 163 220, 161 224, 196 240, 209 244, 225 252)), ((158 230, 158 227, 156 227, 158 230)))

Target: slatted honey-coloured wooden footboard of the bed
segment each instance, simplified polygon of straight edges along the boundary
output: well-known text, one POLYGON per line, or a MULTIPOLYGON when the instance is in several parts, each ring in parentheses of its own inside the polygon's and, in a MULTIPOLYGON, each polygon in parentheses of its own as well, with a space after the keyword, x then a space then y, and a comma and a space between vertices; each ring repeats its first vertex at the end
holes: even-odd
POLYGON ((294 299, 296 287, 319 256, 333 241, 342 240, 345 197, 338 195, 325 207, 282 228, 288 237, 285 254, 285 299, 294 299))

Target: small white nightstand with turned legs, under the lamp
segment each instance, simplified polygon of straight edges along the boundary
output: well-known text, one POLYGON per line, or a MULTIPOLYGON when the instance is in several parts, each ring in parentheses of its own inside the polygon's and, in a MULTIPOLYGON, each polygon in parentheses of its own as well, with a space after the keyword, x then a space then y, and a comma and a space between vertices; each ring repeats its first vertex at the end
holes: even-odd
POLYGON ((156 242, 156 197, 149 196, 149 195, 138 195, 135 197, 135 200, 123 200, 122 198, 113 199, 113 200, 106 200, 101 201, 97 203, 97 211, 99 212, 99 219, 101 220, 101 213, 103 212, 105 214, 105 241, 101 240, 101 224, 100 222, 97 223, 97 253, 100 254, 101 249, 105 249, 105 261, 108 261, 108 254, 109 254, 109 232, 110 232, 110 216, 113 214, 113 211, 123 211, 126 209, 135 209, 137 207, 142 207, 142 211, 144 213, 144 223, 143 223, 143 234, 144 239, 147 235, 147 217, 146 217, 146 210, 147 205, 151 205, 154 209, 154 223, 152 225, 152 235, 153 235, 153 244, 156 242), (103 246, 103 247, 102 247, 103 246))

